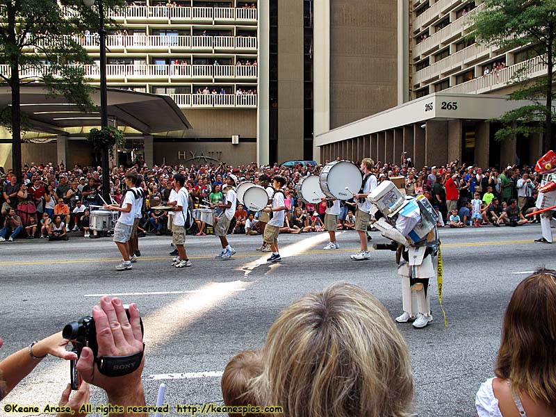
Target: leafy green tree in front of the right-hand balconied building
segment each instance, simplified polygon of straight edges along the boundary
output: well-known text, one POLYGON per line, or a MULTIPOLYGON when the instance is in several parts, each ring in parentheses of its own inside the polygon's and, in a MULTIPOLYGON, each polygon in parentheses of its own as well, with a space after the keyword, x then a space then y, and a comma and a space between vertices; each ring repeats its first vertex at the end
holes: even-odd
MULTIPOLYGON (((530 64, 516 72, 512 81, 520 86, 510 99, 528 99, 532 104, 509 111, 500 117, 502 129, 497 140, 514 138, 521 133, 543 133, 543 152, 556 149, 552 107, 556 64, 556 1, 554 0, 485 0, 484 9, 476 13, 471 36, 478 42, 500 49, 526 47, 528 58, 546 65, 547 74, 530 80, 530 64)), ((530 62, 530 61, 528 61, 530 62)))

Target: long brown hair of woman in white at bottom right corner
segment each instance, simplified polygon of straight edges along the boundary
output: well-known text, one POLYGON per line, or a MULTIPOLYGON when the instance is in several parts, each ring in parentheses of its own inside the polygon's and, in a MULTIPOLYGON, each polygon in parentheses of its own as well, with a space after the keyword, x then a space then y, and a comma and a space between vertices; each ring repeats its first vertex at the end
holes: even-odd
POLYGON ((523 279, 502 324, 495 374, 556 413, 556 271, 523 279))

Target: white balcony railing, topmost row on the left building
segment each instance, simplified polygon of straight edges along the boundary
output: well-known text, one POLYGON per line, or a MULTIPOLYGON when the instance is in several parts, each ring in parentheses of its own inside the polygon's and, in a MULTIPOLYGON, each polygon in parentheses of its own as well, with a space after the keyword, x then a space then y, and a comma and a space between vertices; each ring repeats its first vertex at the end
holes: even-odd
POLYGON ((180 20, 188 22, 256 22, 256 9, 212 8, 212 7, 171 7, 127 6, 109 10, 108 17, 130 21, 180 20))

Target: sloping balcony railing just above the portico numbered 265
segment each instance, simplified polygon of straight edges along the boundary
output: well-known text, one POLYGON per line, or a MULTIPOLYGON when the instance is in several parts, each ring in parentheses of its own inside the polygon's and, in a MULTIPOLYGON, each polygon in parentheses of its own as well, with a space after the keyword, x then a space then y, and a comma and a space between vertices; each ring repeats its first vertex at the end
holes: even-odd
POLYGON ((537 56, 524 61, 523 63, 505 67, 503 70, 491 72, 490 74, 477 77, 474 80, 454 85, 453 87, 442 90, 442 92, 481 94, 484 92, 498 90, 506 87, 508 84, 511 84, 516 73, 523 70, 525 67, 528 68, 528 79, 546 75, 546 64, 542 62, 539 56, 537 56))

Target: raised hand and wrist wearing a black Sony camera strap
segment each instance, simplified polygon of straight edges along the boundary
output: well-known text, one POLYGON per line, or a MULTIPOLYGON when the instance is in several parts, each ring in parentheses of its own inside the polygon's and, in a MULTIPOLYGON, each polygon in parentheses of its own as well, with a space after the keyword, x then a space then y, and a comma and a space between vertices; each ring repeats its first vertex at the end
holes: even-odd
MULTIPOLYGON (((122 302, 118 298, 102 297, 100 306, 92 309, 97 329, 99 357, 121 357, 136 354, 143 350, 139 311, 136 304, 129 306, 129 320, 122 302)), ((145 360, 138 369, 121 377, 102 375, 95 364, 92 350, 83 347, 77 362, 81 377, 90 384, 99 386, 108 394, 108 402, 122 407, 145 405, 145 393, 141 382, 141 373, 145 360)), ((118 414, 127 416, 128 414, 118 414)), ((131 416, 131 414, 129 414, 131 416)), ((146 414, 133 414, 146 416, 146 414)))

